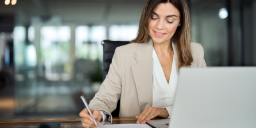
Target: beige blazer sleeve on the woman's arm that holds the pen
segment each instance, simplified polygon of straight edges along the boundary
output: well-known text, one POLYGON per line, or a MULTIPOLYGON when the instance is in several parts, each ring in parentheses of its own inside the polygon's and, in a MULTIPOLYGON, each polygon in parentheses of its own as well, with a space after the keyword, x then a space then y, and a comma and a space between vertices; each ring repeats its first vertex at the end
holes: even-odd
POLYGON ((99 88, 99 92, 90 101, 91 109, 98 109, 105 111, 110 115, 112 123, 111 112, 116 109, 118 100, 120 99, 122 90, 122 72, 120 64, 120 54, 118 47, 115 50, 112 63, 109 66, 108 75, 99 88))

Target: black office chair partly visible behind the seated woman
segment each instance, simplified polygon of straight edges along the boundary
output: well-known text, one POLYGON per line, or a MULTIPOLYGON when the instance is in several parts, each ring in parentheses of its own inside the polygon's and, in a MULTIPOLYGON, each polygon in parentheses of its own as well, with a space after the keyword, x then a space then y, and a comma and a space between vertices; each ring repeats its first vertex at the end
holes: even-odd
MULTIPOLYGON (((103 45, 102 81, 104 81, 104 79, 108 74, 109 65, 112 63, 112 58, 114 56, 116 47, 129 44, 129 42, 103 40, 101 44, 103 45)), ((119 111, 120 111, 120 99, 117 102, 116 109, 111 113, 111 115, 113 117, 119 117, 119 111)))

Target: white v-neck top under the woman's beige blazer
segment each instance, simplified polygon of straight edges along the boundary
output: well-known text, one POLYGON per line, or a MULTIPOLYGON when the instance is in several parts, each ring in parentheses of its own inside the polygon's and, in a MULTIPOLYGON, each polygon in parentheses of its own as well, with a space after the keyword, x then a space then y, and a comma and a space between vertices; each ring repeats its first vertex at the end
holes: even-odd
MULTIPOLYGON (((174 93, 179 80, 177 67, 175 64, 175 56, 172 61, 172 71, 170 74, 169 83, 166 81, 161 63, 157 57, 156 51, 153 48, 153 102, 152 107, 166 108, 169 115, 172 111, 174 93)), ((170 117, 170 116, 169 116, 170 117)), ((168 118, 169 118, 168 117, 168 118)))

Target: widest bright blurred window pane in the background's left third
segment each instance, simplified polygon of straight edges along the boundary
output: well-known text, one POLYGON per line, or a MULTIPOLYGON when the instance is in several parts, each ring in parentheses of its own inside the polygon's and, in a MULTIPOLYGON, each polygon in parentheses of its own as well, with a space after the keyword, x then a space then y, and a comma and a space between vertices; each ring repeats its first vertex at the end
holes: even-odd
MULTIPOLYGON (((61 79, 60 74, 67 74, 70 28, 68 26, 44 26, 41 29, 41 61, 45 65, 45 77, 52 81, 61 79)), ((62 75, 63 76, 63 75, 62 75)))

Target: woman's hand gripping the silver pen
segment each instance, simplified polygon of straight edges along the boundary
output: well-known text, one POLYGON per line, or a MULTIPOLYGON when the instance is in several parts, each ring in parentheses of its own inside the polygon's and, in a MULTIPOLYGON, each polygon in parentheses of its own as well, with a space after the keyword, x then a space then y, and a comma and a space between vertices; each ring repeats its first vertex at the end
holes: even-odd
POLYGON ((102 121, 102 115, 99 110, 91 109, 91 111, 93 117, 90 116, 86 108, 84 108, 83 111, 79 113, 79 116, 82 117, 81 121, 84 128, 96 127, 96 125, 93 123, 93 118, 95 118, 97 124, 102 121))

